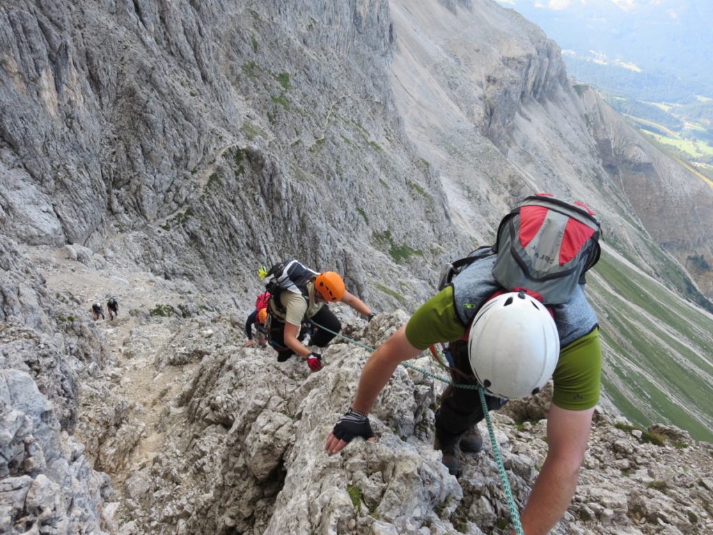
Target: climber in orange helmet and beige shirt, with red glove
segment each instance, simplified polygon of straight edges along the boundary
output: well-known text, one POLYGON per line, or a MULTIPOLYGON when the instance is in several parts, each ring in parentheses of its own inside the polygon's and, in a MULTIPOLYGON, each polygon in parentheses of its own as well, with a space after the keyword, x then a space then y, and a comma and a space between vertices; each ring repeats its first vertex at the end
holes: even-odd
POLYGON ((302 340, 309 335, 309 345, 327 347, 342 329, 327 302, 341 301, 369 319, 374 317, 359 297, 347 292, 344 280, 334 271, 318 273, 291 260, 272 266, 265 281, 272 294, 269 339, 277 350, 277 362, 297 353, 307 360, 310 370, 322 370, 322 355, 310 351, 302 340))

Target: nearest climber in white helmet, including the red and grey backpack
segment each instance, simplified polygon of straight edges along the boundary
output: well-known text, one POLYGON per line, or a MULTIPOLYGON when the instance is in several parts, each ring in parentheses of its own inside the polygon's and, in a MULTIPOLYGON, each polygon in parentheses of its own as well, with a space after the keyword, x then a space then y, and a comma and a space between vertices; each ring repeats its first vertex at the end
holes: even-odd
POLYGON ((599 327, 583 288, 584 272, 598 259, 599 225, 585 205, 572 208, 558 200, 548 204, 536 197, 528 199, 530 205, 523 202, 513 210, 515 219, 503 220, 495 246, 474 252, 466 267, 451 272, 446 285, 439 285, 441 291, 369 357, 354 402, 332 429, 325 447, 334 454, 354 437, 373 442, 367 415, 396 367, 432 345, 449 342, 456 387, 448 387, 441 397, 434 449, 441 450, 443 464, 457 475, 461 450, 481 448, 482 441, 473 431, 485 417, 478 390, 457 384, 486 389, 486 405, 493 410, 507 399, 535 394, 551 376, 554 394, 547 420, 547 458, 521 517, 525 534, 545 534, 563 516, 575 493, 600 394, 599 327), (513 221, 517 224, 511 226, 513 221), (508 239, 512 248, 501 246, 501 240, 508 239), (522 265, 507 260, 513 251, 523 252, 521 245, 528 245, 525 253, 532 257, 523 257, 522 265), (550 265, 541 267, 550 275, 552 270, 558 275, 543 278, 545 284, 538 290, 503 282, 503 272, 512 274, 518 265, 529 267, 533 258, 535 263, 550 265), (568 261, 573 265, 564 269, 568 261), (495 270, 496 265, 501 269, 495 270), (560 277, 562 285, 553 283, 560 277), (573 288, 563 290, 570 282, 573 288), (554 293, 546 287, 550 284, 554 293), (549 306, 530 294, 543 297, 549 306), (468 442, 463 444, 466 433, 468 442))

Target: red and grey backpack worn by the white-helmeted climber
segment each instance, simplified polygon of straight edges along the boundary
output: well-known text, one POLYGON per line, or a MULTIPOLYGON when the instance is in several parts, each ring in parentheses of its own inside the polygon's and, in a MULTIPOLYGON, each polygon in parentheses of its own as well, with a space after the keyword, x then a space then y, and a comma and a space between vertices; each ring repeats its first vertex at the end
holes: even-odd
MULTIPOLYGON (((599 260, 600 235, 600 224, 587 205, 548 193, 530 195, 500 223, 491 247, 492 253, 498 253, 493 277, 506 291, 525 290, 545 305, 567 302, 577 285, 585 283, 585 272, 599 260)), ((481 249, 446 265, 438 288, 489 255, 481 249)))

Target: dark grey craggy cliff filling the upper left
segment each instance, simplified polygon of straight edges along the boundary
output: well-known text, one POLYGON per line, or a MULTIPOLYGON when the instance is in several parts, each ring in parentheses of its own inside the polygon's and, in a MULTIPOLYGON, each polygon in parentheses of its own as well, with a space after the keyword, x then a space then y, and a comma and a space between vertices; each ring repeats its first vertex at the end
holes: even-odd
POLYGON ((209 288, 299 254, 366 291, 386 254, 416 277, 406 298, 440 261, 423 240, 456 239, 396 113, 386 1, 24 1, 0 16, 11 237, 209 288))

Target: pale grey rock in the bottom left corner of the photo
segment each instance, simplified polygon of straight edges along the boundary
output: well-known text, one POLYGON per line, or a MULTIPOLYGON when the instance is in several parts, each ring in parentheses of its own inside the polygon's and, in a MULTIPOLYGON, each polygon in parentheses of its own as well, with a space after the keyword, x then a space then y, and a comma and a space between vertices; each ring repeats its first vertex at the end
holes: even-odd
POLYGON ((104 534, 109 477, 63 432, 30 374, 0 370, 0 529, 104 534))

